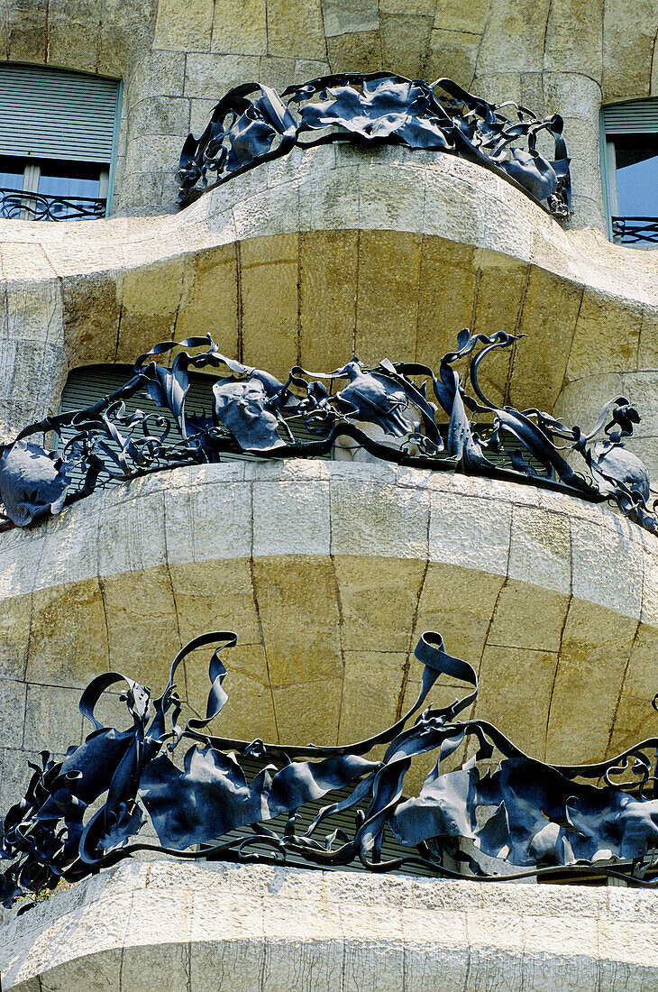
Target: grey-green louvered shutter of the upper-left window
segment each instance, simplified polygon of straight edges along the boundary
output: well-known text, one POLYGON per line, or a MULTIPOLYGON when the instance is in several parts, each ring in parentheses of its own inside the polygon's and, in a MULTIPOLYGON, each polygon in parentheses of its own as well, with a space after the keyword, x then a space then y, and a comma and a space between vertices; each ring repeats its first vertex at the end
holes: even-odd
POLYGON ((0 63, 0 155, 111 163, 119 82, 0 63))

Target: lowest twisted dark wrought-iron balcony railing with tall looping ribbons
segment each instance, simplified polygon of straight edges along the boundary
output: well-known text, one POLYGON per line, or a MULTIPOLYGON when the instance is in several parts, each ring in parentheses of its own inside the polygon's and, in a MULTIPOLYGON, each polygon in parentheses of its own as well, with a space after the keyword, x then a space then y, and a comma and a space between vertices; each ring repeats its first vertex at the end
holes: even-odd
POLYGON ((2 824, 0 859, 11 862, 0 875, 6 905, 143 850, 277 863, 294 855, 325 867, 361 862, 373 871, 420 865, 439 876, 483 881, 565 873, 578 878, 594 870, 627 877, 631 884, 658 885, 658 878, 648 877, 658 847, 651 757, 658 737, 594 765, 530 758, 487 720, 457 719, 475 702, 478 677, 471 665, 447 654, 435 633, 423 634, 415 649, 423 665, 416 701, 374 737, 338 747, 214 737, 207 725, 228 698, 219 656, 236 640, 221 631, 190 641, 174 659, 158 698, 118 673, 88 684, 80 710, 94 731, 70 747, 63 761, 42 752, 42 767, 31 764, 25 797, 2 824), (206 715, 181 727, 176 669, 209 645, 216 650, 206 715), (423 709, 440 676, 465 683, 468 691, 449 706, 423 709), (104 726, 95 715, 103 693, 117 683, 124 685, 121 698, 132 722, 125 730, 104 726), (191 743, 176 765, 171 758, 183 740, 191 743), (458 771, 444 771, 442 762, 470 741, 477 742, 475 756, 458 771), (384 756, 369 759, 378 745, 384 756), (404 779, 413 759, 429 753, 436 757, 434 767, 419 795, 406 797, 404 779), (251 781, 241 764, 246 761, 257 767, 251 781), (622 774, 629 781, 615 783, 622 774), (603 786, 597 785, 602 779, 603 786), (331 794, 339 789, 347 795, 334 802, 331 794), (317 807, 325 798, 310 825, 298 827, 303 807, 317 807), (351 832, 326 832, 338 810, 353 810, 351 832), (273 820, 281 814, 284 825, 276 829, 273 820), (148 818, 160 843, 138 837, 148 818), (241 834, 230 836, 236 830, 241 834), (382 858, 387 833, 408 855, 382 858))

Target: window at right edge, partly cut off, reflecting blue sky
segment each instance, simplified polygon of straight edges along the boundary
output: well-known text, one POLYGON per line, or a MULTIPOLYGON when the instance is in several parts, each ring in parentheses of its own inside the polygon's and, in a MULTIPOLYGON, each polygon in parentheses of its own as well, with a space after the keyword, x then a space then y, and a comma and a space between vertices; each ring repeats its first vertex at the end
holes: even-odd
POLYGON ((601 158, 608 236, 658 245, 658 99, 603 107, 601 158))

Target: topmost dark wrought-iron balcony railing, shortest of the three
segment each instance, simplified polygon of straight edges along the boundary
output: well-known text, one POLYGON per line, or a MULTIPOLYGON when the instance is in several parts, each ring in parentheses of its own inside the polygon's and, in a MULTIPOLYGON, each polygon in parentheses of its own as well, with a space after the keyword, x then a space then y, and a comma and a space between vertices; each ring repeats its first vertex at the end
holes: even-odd
POLYGON ((180 155, 179 203, 293 148, 327 142, 405 145, 448 152, 493 170, 556 217, 569 216, 571 180, 563 120, 511 100, 488 103, 452 79, 427 83, 390 72, 333 74, 288 86, 246 83, 222 97, 200 138, 180 155), (551 159, 537 136, 553 140, 551 159), (302 139, 304 136, 305 140, 302 139), (309 137, 306 137, 309 136, 309 137))

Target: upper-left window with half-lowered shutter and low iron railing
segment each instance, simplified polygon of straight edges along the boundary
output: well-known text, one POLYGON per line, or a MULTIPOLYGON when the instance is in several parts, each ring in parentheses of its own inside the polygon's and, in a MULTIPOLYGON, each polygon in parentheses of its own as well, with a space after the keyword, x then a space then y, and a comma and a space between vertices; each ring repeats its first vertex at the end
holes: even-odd
POLYGON ((116 79, 0 64, 0 216, 110 212, 120 90, 116 79))

